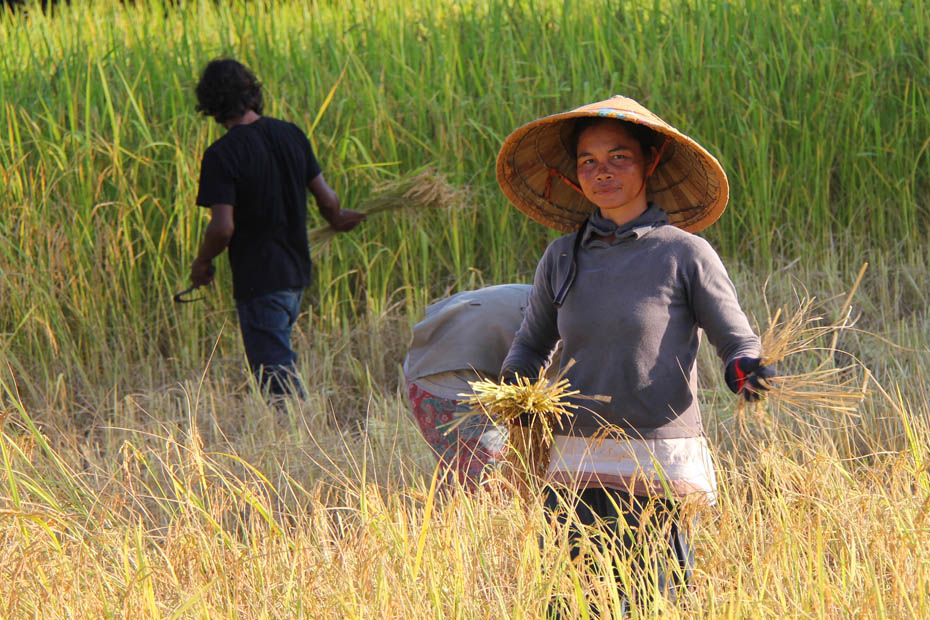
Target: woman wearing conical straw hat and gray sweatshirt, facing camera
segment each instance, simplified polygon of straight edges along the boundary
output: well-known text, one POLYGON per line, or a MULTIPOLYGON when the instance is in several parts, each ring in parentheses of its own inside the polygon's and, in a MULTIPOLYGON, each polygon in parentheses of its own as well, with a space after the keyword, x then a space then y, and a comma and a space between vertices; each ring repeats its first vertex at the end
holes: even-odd
POLYGON ((575 360, 572 387, 610 399, 579 400, 555 437, 546 507, 563 522, 606 527, 627 552, 660 532, 668 561, 633 573, 675 597, 694 563, 681 500, 713 503, 716 492, 697 399, 701 334, 747 400, 774 375, 717 253, 693 234, 726 207, 726 175, 697 142, 613 97, 514 131, 497 178, 518 209, 568 233, 539 262, 501 376, 535 377, 561 339, 561 359, 575 360))

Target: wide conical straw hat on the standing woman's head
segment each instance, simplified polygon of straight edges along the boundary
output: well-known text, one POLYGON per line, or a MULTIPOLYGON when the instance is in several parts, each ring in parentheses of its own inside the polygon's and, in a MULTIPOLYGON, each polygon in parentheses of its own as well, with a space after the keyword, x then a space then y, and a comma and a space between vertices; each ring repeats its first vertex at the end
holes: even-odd
POLYGON ((619 95, 527 123, 504 141, 497 182, 515 207, 537 222, 574 232, 597 207, 563 177, 578 184, 569 142, 575 120, 616 118, 645 125, 666 137, 661 159, 646 183, 646 198, 675 226, 697 232, 714 223, 730 189, 720 163, 700 144, 627 97, 619 95))

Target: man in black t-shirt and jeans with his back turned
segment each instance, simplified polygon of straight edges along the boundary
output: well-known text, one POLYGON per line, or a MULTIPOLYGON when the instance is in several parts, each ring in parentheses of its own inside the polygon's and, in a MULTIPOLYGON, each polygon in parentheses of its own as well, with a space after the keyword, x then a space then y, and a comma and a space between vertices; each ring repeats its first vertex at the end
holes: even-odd
POLYGON ((197 204, 210 223, 191 283, 213 280, 213 259, 229 248, 233 297, 249 367, 271 394, 302 394, 291 328, 310 284, 307 190, 335 230, 365 219, 341 209, 306 135, 296 125, 263 117, 261 84, 231 59, 207 64, 197 84, 197 110, 227 132, 207 148, 197 204))

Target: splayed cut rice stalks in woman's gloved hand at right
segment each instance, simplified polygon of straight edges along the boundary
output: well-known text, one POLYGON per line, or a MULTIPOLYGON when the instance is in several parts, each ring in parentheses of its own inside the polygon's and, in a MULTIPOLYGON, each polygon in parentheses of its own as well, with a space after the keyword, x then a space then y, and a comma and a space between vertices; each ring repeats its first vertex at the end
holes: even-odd
POLYGON ((802 299, 787 318, 783 318, 781 308, 775 312, 762 334, 762 364, 780 364, 802 353, 823 356, 823 361, 807 372, 779 373, 769 380, 771 390, 766 398, 808 414, 814 410, 855 414, 866 396, 871 374, 855 356, 838 351, 836 345, 840 333, 852 330, 855 324, 850 302, 867 266, 859 271, 837 320, 825 322, 813 297, 802 299), (838 366, 839 359, 849 363, 838 366))

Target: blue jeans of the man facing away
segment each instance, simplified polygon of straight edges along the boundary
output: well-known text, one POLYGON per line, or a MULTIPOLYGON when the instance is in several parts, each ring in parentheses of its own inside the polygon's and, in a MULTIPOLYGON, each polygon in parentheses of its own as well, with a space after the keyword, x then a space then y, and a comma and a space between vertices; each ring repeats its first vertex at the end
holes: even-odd
POLYGON ((285 289, 236 301, 249 368, 269 394, 304 396, 297 354, 291 349, 291 328, 302 296, 302 289, 285 289))

